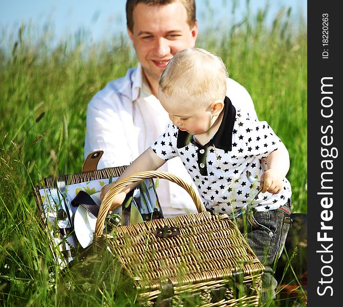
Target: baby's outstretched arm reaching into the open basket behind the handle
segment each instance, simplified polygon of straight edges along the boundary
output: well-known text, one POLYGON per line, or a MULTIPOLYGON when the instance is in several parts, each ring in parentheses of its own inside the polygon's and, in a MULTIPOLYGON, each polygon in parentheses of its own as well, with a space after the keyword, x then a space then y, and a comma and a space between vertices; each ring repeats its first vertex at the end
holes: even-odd
MULTIPOLYGON (((161 159, 156 155, 156 153, 153 151, 151 147, 146 149, 134 162, 132 162, 121 174, 121 176, 118 178, 117 181, 124 179, 131 174, 134 174, 136 172, 140 171, 146 171, 146 170, 156 170, 159 167, 161 167, 166 161, 161 159)), ((133 183, 127 187, 125 187, 121 192, 119 192, 116 197, 113 200, 111 209, 113 210, 116 207, 119 207, 128 192, 130 192, 134 187, 136 187, 139 184, 139 182, 133 183)), ((100 198, 103 199, 105 194, 111 189, 111 187, 114 185, 114 183, 105 185, 101 189, 100 198)))

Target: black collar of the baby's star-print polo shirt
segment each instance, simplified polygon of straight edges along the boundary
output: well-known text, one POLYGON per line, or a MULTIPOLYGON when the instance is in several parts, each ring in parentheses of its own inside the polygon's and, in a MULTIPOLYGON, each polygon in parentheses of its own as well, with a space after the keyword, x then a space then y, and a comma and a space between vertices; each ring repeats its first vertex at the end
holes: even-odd
MULTIPOLYGON (((216 148, 223 149, 223 150, 232 150, 232 131, 233 125, 236 117, 236 109, 232 105, 231 100, 228 97, 224 99, 224 115, 222 122, 219 126, 217 133, 213 136, 213 138, 204 146, 208 147, 209 145, 215 145, 216 148)), ((192 135, 190 135, 187 131, 178 131, 178 138, 177 138, 177 148, 182 148, 188 145, 191 142, 197 146, 197 144, 192 135)))

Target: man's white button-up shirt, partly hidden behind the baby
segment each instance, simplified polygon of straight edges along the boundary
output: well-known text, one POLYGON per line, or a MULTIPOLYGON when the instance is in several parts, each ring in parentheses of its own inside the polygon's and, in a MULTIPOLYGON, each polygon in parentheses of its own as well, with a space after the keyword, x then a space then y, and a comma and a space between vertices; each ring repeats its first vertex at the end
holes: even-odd
MULTIPOLYGON (((228 79, 227 95, 234 105, 256 117, 251 97, 242 85, 228 79)), ((99 169, 128 165, 154 143, 169 122, 167 112, 143 82, 139 64, 125 77, 109 82, 89 103, 84 157, 94 150, 103 150, 99 169)), ((160 170, 192 183, 178 157, 160 170)), ((161 180, 157 192, 164 217, 197 212, 190 196, 178 185, 161 180)))

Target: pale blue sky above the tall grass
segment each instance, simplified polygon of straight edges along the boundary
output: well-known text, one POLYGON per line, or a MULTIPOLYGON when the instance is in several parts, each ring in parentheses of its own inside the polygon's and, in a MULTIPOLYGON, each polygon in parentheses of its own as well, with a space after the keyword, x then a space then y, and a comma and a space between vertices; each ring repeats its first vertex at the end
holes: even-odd
MULTIPOLYGON (((197 0, 197 17, 202 27, 211 20, 227 18, 233 0, 197 0), (208 3, 212 12, 208 11, 208 3), (207 6, 206 6, 207 4, 207 6)), ((57 38, 73 35, 82 29, 93 40, 112 33, 125 33, 125 0, 0 0, 0 43, 5 33, 16 33, 19 26, 32 23, 37 30, 50 23, 57 38)), ((263 8, 266 0, 251 0, 254 11, 263 8)), ((292 7, 294 16, 302 11, 307 17, 306 0, 270 0, 269 19, 281 7, 292 7)), ((237 10, 243 12, 246 0, 237 0, 237 10)), ((239 14, 236 14, 236 16, 239 14)))

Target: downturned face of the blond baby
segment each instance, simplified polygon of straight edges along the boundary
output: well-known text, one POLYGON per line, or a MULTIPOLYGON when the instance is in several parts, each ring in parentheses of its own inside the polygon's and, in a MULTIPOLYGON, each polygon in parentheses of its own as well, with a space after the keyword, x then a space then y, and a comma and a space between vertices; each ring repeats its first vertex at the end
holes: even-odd
POLYGON ((166 97, 160 90, 158 95, 170 120, 181 131, 187 131, 192 135, 202 135, 211 127, 212 114, 209 107, 195 106, 187 96, 184 99, 166 97))

